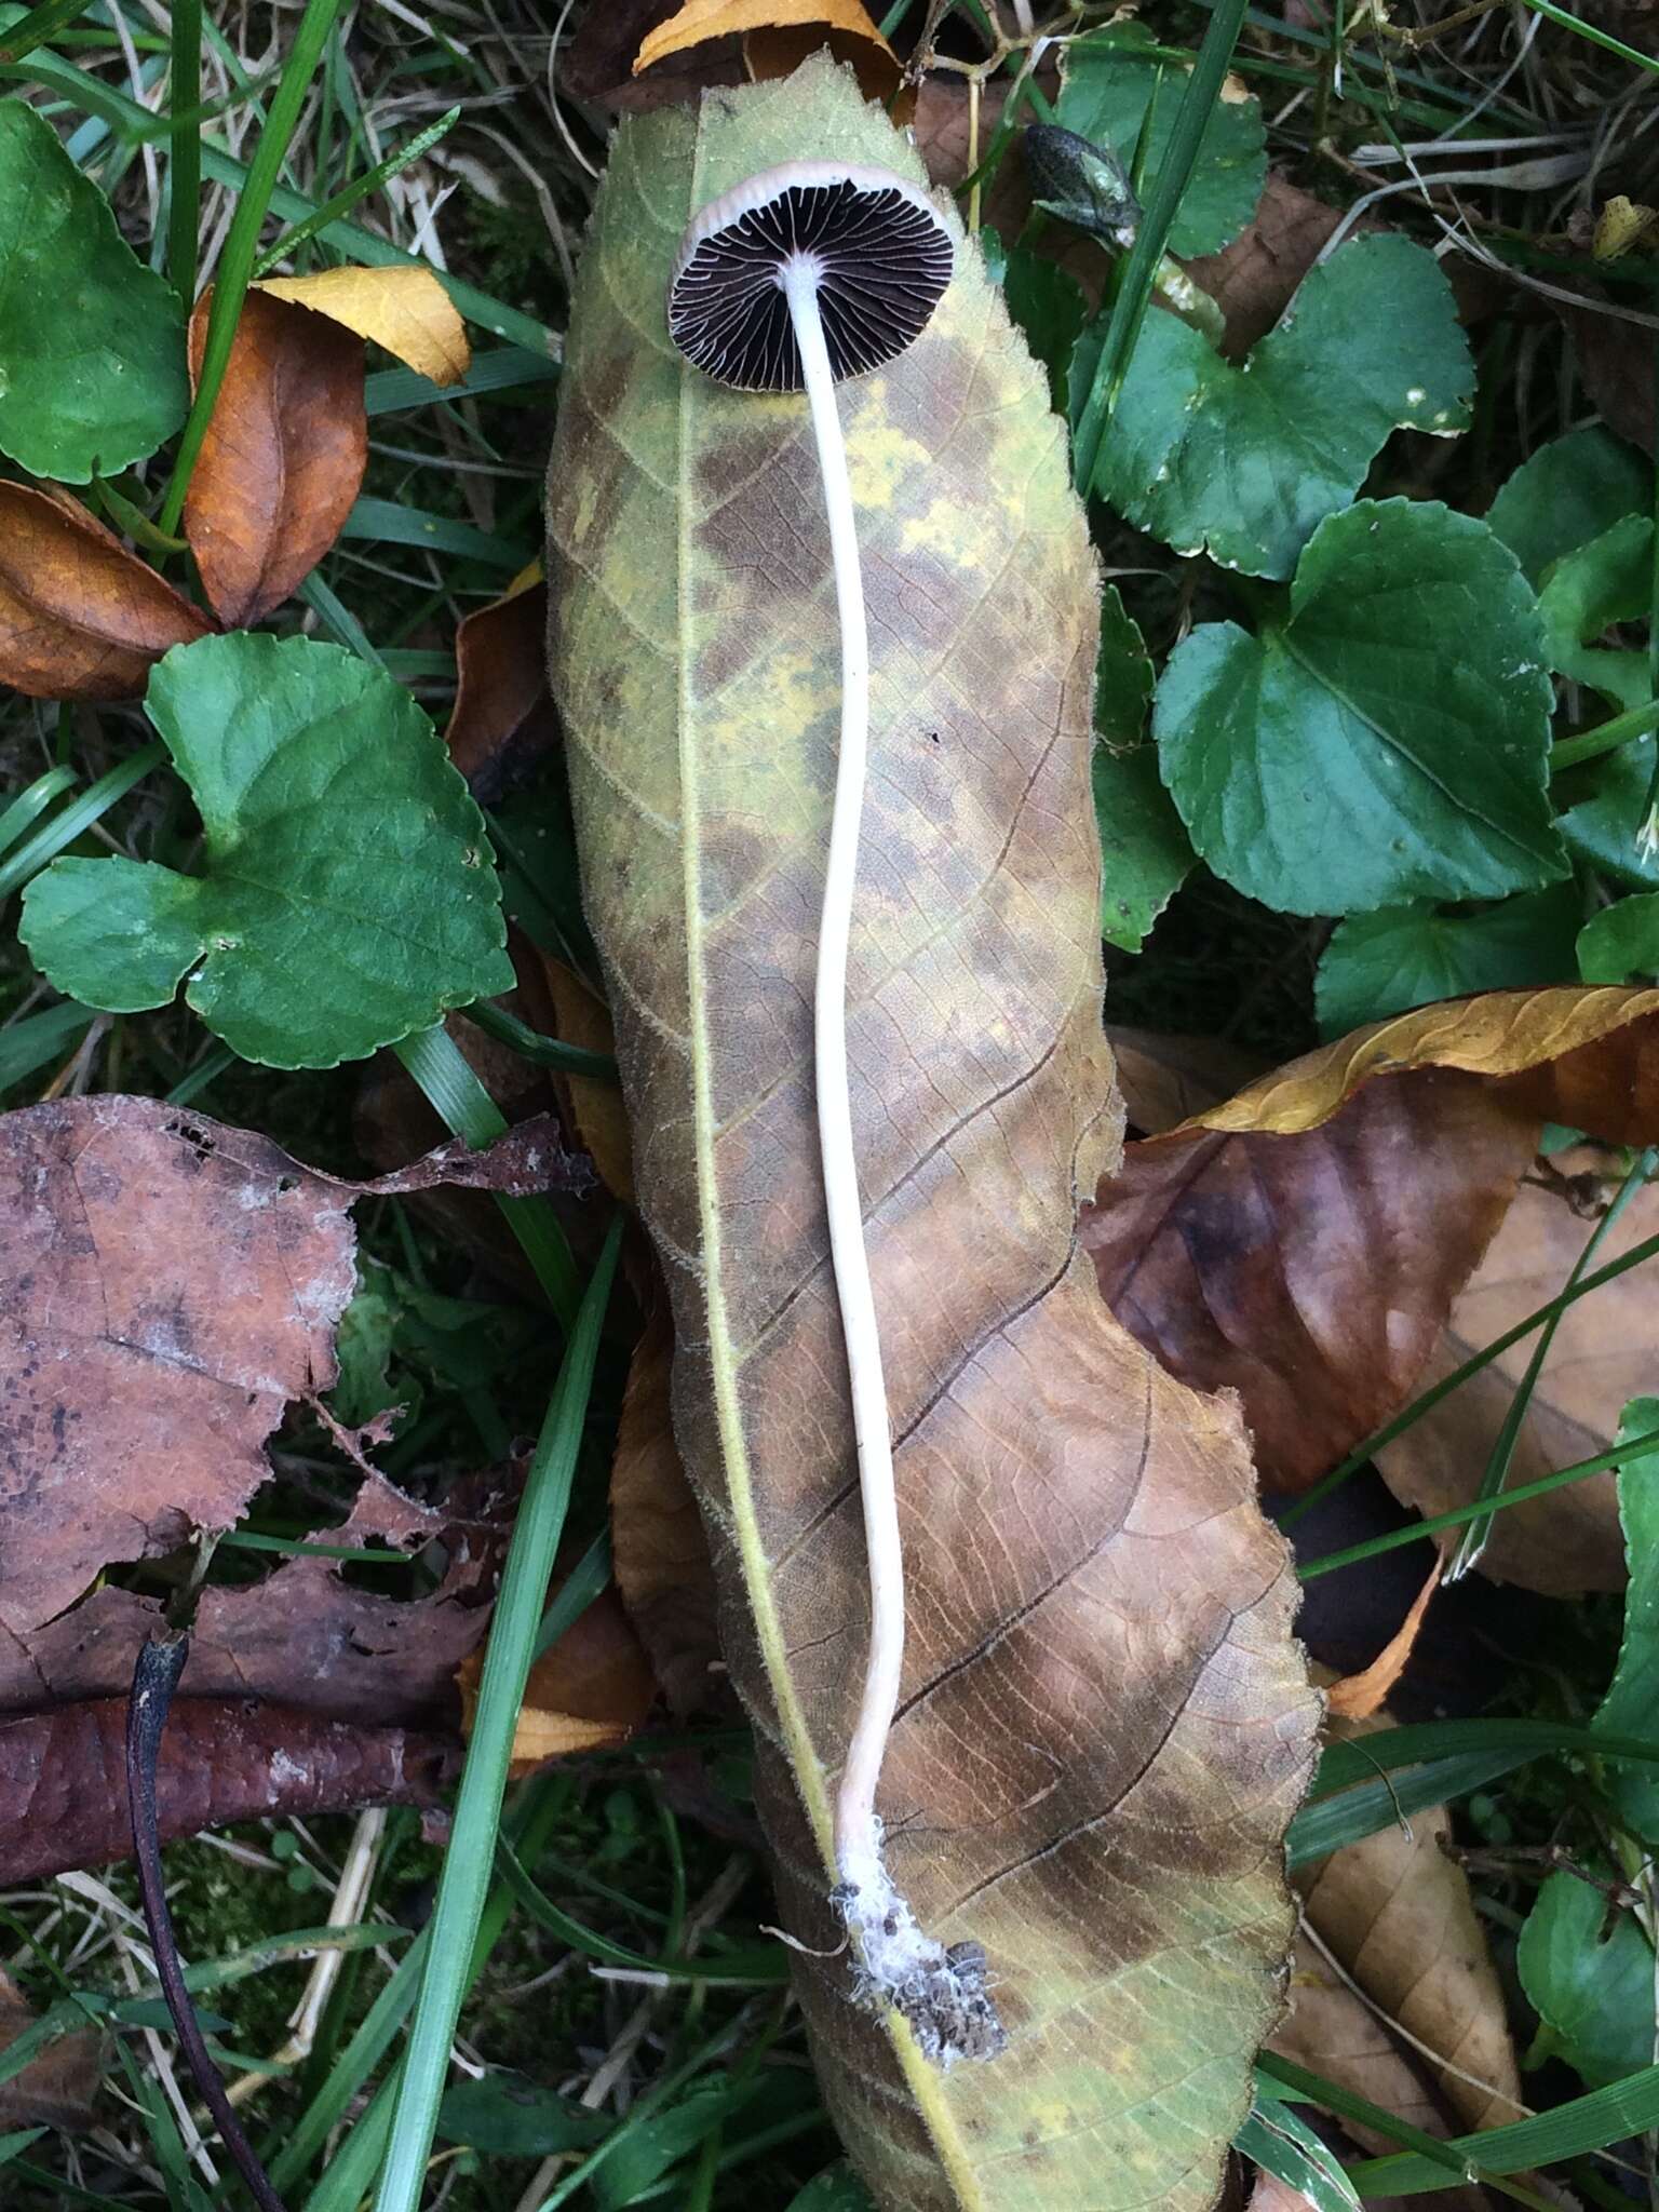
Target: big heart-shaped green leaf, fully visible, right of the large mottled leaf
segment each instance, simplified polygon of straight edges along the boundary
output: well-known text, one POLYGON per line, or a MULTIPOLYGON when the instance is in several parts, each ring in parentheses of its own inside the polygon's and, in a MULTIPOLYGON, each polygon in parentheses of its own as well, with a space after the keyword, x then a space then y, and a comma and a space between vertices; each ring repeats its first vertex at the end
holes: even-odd
POLYGON ((1360 500, 1314 533, 1290 619, 1194 630, 1157 690, 1199 854, 1283 914, 1500 898, 1564 872, 1537 602, 1484 522, 1360 500))

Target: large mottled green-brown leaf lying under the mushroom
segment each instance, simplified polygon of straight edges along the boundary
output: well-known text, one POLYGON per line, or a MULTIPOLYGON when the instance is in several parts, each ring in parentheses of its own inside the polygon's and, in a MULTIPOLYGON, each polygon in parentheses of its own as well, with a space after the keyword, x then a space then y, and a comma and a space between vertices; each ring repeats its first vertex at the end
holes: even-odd
POLYGON ((588 914, 675 1307, 675 1425, 754 1717, 801 1997, 885 2208, 1217 2190, 1287 1942, 1310 1759, 1279 1540, 1234 1411, 1073 1256, 1115 1148, 1088 796, 1095 582, 1064 436, 978 254, 841 389, 872 599, 854 1126, 911 1644, 883 1783, 925 1927, 980 1942, 1009 2048, 940 2073, 856 2011, 825 1902, 865 1551, 812 1104, 838 653, 801 400, 664 338, 686 217, 772 161, 920 164, 852 80, 615 139, 549 476, 553 677, 588 914))

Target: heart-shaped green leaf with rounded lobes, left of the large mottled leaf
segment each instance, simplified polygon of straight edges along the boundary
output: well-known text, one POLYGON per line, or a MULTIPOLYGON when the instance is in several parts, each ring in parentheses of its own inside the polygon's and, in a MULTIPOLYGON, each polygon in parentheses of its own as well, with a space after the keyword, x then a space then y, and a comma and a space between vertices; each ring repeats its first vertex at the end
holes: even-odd
POLYGON ((150 721, 190 785, 206 874, 53 860, 22 938, 60 991, 188 1002, 243 1060, 336 1066, 507 991, 484 821, 392 677, 338 646, 234 633, 175 646, 150 721))

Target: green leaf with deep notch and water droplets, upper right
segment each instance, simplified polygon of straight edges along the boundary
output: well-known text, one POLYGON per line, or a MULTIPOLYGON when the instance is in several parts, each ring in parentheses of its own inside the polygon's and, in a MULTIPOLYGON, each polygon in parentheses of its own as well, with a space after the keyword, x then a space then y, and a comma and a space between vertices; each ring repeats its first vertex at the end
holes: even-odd
MULTIPOLYGON (((1099 352, 1091 338, 1073 356, 1079 405, 1099 352)), ((1473 389, 1433 254, 1398 237, 1354 239, 1310 270, 1243 365, 1172 314, 1148 316, 1095 489, 1181 553, 1208 549, 1223 568, 1283 577, 1349 504, 1391 429, 1467 429, 1473 389)))

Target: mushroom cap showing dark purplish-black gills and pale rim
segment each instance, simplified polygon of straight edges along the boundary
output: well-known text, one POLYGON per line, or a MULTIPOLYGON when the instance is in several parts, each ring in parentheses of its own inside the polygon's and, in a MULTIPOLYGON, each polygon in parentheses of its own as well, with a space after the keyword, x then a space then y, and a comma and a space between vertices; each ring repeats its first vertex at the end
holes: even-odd
POLYGON ((712 199, 686 232, 668 285, 668 336, 699 369, 743 392, 801 392, 785 270, 810 261, 838 378, 902 354, 927 325, 956 259, 914 184, 847 161, 785 161, 712 199))

